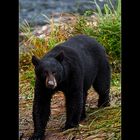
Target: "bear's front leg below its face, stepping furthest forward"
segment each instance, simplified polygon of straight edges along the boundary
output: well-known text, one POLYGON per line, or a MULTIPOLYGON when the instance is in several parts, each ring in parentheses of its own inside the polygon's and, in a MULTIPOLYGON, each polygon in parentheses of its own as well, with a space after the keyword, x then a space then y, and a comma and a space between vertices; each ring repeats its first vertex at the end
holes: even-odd
POLYGON ((46 88, 36 81, 33 102, 34 133, 29 140, 43 140, 45 127, 50 116, 51 94, 46 88))

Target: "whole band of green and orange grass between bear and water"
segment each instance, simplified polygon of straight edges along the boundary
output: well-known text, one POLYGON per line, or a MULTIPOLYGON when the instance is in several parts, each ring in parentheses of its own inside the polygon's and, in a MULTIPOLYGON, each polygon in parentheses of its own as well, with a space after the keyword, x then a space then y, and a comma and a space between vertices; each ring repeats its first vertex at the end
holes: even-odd
MULTIPOLYGON (((26 51, 20 51, 20 67, 28 69, 31 66, 31 56, 41 57, 52 49, 56 44, 67 40, 69 37, 77 34, 86 34, 97 39, 105 48, 114 72, 120 72, 120 50, 121 50, 121 1, 118 0, 118 6, 115 10, 113 5, 109 8, 104 5, 104 11, 101 11, 99 5, 97 11, 86 11, 83 16, 76 16, 76 21, 72 24, 60 23, 55 25, 53 18, 47 19, 50 26, 48 34, 44 37, 38 37, 25 21, 20 25, 21 45, 26 51), (94 13, 91 14, 91 13, 94 13), (28 50, 28 51, 27 51, 28 50)), ((44 15, 45 16, 45 15, 44 15)))

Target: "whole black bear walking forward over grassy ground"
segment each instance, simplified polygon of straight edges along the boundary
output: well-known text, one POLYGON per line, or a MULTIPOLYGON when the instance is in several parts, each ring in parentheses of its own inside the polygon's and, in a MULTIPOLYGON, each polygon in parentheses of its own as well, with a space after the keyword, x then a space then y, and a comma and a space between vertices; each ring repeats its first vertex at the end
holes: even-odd
POLYGON ((32 63, 36 80, 34 133, 30 140, 43 139, 51 98, 56 91, 63 91, 66 99, 64 129, 76 127, 85 119, 87 91, 91 86, 99 94, 98 107, 110 105, 110 66, 104 47, 94 38, 74 36, 54 47, 42 59, 33 56, 32 63))

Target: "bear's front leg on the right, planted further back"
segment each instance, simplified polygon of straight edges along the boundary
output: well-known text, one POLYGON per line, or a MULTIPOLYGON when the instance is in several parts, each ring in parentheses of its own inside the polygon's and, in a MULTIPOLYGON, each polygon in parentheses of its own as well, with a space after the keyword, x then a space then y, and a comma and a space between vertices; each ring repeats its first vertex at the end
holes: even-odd
POLYGON ((64 129, 77 127, 83 108, 83 92, 78 90, 66 95, 66 123, 64 129))

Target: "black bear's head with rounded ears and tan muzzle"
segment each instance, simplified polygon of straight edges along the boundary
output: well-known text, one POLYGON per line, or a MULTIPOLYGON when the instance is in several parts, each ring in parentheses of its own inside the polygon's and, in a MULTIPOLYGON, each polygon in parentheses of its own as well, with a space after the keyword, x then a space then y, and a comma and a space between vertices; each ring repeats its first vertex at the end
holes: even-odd
POLYGON ((39 59, 32 56, 32 63, 35 66, 36 78, 47 88, 54 89, 62 81, 64 69, 61 64, 64 53, 60 52, 55 57, 39 59))

